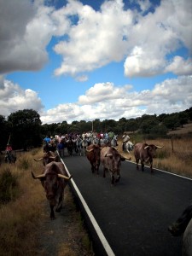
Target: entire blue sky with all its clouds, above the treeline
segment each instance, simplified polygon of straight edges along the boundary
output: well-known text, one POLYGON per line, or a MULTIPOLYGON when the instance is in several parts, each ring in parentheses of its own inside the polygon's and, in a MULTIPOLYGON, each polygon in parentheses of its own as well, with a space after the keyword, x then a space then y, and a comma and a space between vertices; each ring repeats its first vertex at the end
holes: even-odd
POLYGON ((45 124, 192 107, 192 2, 0 0, 0 114, 45 124))

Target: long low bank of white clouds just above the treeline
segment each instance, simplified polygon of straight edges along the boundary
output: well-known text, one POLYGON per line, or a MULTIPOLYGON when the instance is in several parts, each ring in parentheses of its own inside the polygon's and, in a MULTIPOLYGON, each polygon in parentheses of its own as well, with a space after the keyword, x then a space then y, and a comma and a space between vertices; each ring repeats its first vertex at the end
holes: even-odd
POLYGON ((22 90, 18 84, 4 80, 0 87, 0 109, 8 116, 17 110, 32 108, 43 123, 67 120, 137 118, 144 113, 180 112, 192 106, 192 76, 166 79, 152 90, 133 91, 131 85, 117 87, 113 83, 95 84, 79 96, 79 102, 59 104, 45 110, 38 93, 22 90))

